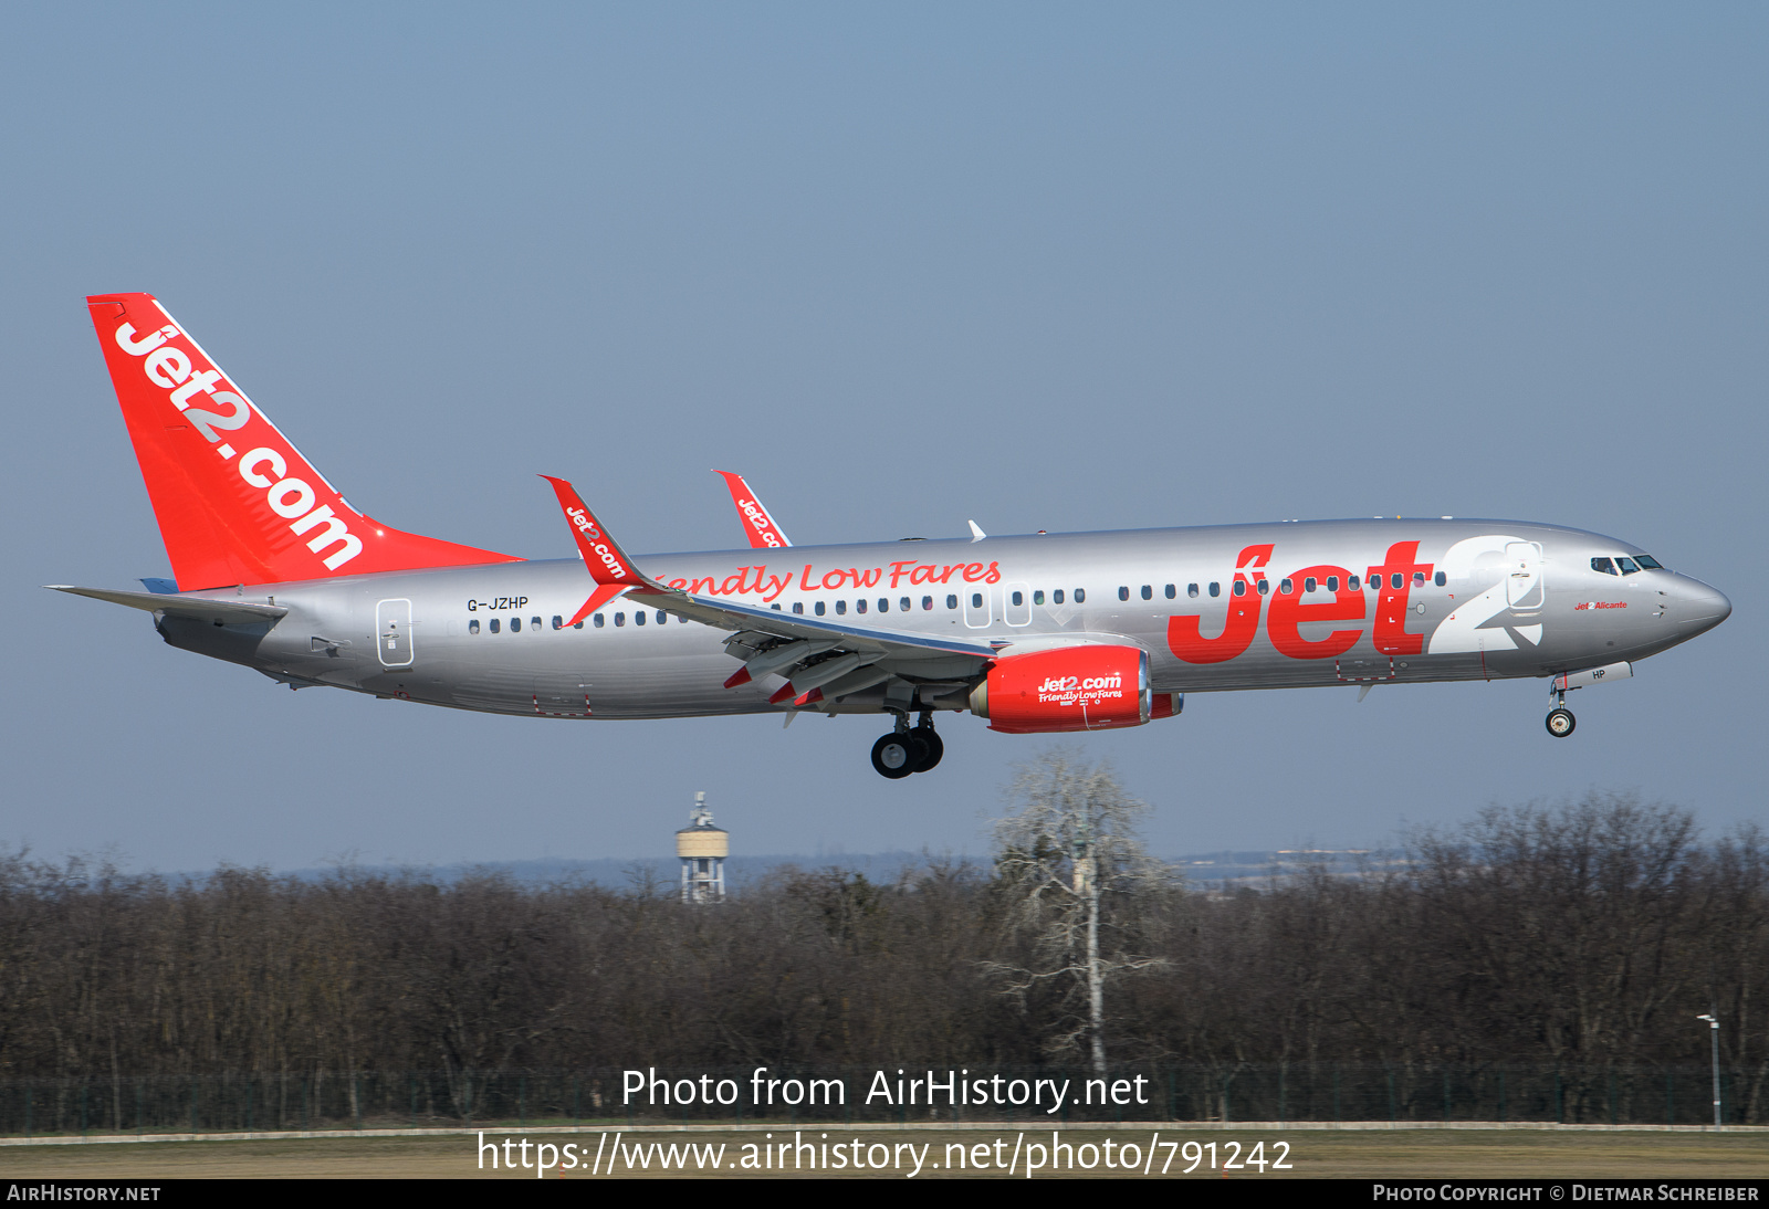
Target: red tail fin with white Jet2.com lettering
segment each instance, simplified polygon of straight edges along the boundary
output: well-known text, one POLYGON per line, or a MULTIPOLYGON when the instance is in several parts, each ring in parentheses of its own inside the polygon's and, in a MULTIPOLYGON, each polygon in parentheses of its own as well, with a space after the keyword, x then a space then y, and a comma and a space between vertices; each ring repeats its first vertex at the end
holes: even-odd
POLYGON ((87 308, 180 590, 520 562, 357 513, 150 293, 87 308))

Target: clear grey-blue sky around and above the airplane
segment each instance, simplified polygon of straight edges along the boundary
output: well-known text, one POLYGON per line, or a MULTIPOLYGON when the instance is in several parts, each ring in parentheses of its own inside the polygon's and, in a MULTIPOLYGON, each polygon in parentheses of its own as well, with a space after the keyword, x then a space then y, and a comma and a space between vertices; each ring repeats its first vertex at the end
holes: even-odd
POLYGON ((1760 5, 44 5, 0 46, 0 840, 214 861, 982 852, 1042 741, 288 693, 41 583, 165 551, 81 306, 150 290, 364 511, 534 557, 1320 516, 1636 541, 1735 613, 1537 682, 1099 735, 1160 852, 1638 790, 1762 817, 1760 5))

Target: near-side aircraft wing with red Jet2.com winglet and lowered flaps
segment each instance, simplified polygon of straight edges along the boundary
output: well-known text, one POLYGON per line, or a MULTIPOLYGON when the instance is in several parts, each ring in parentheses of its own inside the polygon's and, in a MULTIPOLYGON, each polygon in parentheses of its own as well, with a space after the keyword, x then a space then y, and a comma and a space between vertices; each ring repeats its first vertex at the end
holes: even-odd
POLYGON ((570 483, 541 477, 552 483, 584 566, 596 582, 596 590, 570 624, 624 594, 644 608, 729 629, 732 636, 725 640, 725 650, 743 659, 743 668, 725 681, 725 688, 762 675, 782 675, 787 677, 787 686, 775 693, 773 700, 798 698, 794 705, 805 705, 824 695, 835 696, 879 684, 893 675, 957 686, 985 672, 989 661, 996 658, 996 649, 987 643, 869 629, 823 617, 715 601, 665 587, 639 571, 570 483), (830 691, 824 693, 824 688, 830 691))

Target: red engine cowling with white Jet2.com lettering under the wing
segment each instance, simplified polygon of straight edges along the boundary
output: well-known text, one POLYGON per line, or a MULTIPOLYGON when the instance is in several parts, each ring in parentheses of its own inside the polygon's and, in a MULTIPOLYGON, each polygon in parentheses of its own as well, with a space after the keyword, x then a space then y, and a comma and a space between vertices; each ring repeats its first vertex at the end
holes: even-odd
POLYGON ((1148 652, 1060 647, 1008 656, 971 689, 971 712, 1012 735, 1141 726, 1153 712, 1148 652))

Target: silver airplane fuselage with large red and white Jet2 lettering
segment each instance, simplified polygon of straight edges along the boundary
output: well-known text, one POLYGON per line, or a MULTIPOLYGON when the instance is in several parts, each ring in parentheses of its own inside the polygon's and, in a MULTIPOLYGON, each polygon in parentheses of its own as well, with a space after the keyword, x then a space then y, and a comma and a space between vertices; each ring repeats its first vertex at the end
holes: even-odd
MULTIPOLYGON (((828 622, 994 643, 1003 658, 1047 643, 1130 643, 1150 656, 1153 691, 1198 693, 1543 677, 1638 661, 1727 617, 1727 597, 1689 576, 1592 569, 1594 559, 1638 553, 1612 537, 1520 521, 1348 520, 637 562, 706 599, 805 617, 819 617, 821 606, 828 622), (1408 543, 1417 548, 1390 566, 1408 543), (1373 574, 1380 590, 1369 587, 1373 574), (1398 574, 1401 589, 1392 587, 1398 574), (1237 633, 1245 638, 1240 650, 1237 633)), ((157 624, 177 647, 295 686, 458 709, 548 718, 782 709, 768 703, 780 677, 724 688, 739 666, 722 645, 725 631, 624 597, 600 610, 600 624, 591 617, 563 626, 591 587, 577 559, 444 567, 202 592, 288 613, 258 624, 157 624)), ((936 686, 964 668, 922 661, 899 672, 936 686)), ((941 700, 962 702, 962 693, 941 700)), ((817 705, 883 707, 877 688, 817 705)))

